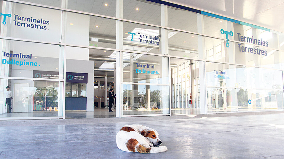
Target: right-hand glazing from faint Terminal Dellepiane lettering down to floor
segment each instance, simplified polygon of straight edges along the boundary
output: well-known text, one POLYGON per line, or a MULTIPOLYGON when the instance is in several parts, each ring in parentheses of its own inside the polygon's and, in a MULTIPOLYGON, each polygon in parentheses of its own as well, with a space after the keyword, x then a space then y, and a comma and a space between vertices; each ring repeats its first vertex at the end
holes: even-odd
POLYGON ((283 72, 206 62, 208 113, 282 110, 283 72))

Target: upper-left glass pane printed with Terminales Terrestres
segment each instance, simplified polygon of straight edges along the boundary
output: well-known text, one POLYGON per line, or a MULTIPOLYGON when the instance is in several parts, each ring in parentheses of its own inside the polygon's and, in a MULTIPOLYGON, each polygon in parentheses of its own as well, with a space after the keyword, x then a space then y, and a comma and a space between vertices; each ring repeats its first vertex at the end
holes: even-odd
POLYGON ((1 36, 56 43, 61 41, 61 11, 5 1, 0 3, 3 3, 1 13, 8 14, 5 21, 0 23, 1 36))

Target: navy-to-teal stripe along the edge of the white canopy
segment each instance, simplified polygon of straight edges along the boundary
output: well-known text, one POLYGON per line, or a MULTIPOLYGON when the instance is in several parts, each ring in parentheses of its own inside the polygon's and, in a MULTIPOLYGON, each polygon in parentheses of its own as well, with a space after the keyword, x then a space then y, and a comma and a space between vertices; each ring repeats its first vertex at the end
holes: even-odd
POLYGON ((262 29, 262 30, 266 30, 266 31, 270 32, 270 29, 267 29, 267 28, 264 28, 264 27, 259 27, 257 25, 245 23, 245 22, 242 22, 242 21, 234 20, 234 19, 227 18, 227 17, 224 17, 224 16, 219 16, 219 15, 216 15, 216 14, 208 13, 208 12, 205 12, 205 11, 200 11, 200 10, 197 10, 197 9, 189 8, 189 7, 186 7, 186 6, 182 6, 182 5, 178 5, 178 4, 174 4, 174 3, 170 3, 170 2, 165 2, 165 1, 161 1, 161 0, 145 0, 145 1, 164 4, 164 5, 167 5, 167 6, 172 6, 172 7, 184 9, 184 10, 187 10, 187 11, 192 11, 192 12, 195 12, 195 13, 199 13, 199 14, 203 14, 203 15, 207 15, 207 16, 212 16, 212 17, 227 20, 227 21, 232 21, 234 23, 247 25, 247 26, 250 26, 250 27, 254 27, 254 28, 257 28, 257 29, 262 29))

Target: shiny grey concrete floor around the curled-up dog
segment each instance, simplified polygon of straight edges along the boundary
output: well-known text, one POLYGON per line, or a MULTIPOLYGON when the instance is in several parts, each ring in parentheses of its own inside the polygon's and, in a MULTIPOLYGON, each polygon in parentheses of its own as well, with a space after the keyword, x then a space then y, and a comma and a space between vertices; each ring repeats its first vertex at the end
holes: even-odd
POLYGON ((0 158, 284 158, 284 112, 0 121, 0 158), (125 124, 159 132, 164 153, 127 153, 125 124))

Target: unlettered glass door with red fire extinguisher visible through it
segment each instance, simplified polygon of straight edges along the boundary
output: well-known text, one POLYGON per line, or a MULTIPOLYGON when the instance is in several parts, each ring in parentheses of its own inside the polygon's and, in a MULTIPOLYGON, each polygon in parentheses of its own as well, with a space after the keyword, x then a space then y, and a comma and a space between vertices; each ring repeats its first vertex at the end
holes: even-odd
POLYGON ((171 58, 172 115, 200 114, 199 61, 171 58))

